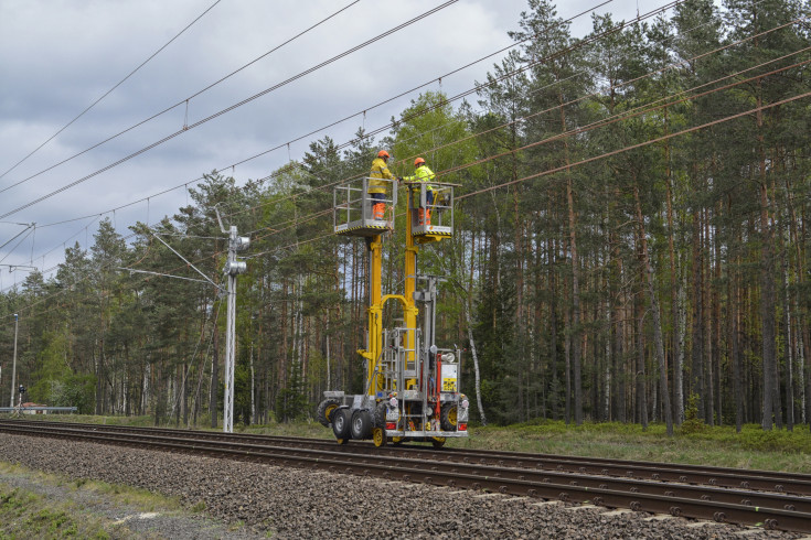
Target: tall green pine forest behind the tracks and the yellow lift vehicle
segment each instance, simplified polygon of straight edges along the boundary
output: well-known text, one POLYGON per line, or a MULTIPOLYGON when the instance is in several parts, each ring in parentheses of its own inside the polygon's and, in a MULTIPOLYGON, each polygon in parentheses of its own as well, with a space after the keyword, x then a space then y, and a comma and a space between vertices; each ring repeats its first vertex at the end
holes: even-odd
MULTIPOLYGON (((324 390, 363 392, 366 249, 334 235, 333 187, 387 149, 395 175, 423 156, 460 185, 452 239, 418 268, 446 279, 436 337, 463 349, 473 423, 811 424, 810 13, 685 0, 594 15, 575 37, 529 0, 471 91, 424 89, 385 130, 313 140, 264 179, 212 171, 173 216, 127 235, 105 217, 89 249, 3 291, 0 402, 18 314, 32 401, 216 425, 225 299, 167 277, 223 284, 215 207, 252 241, 234 422, 312 419, 324 390)), ((384 294, 404 280, 404 199, 384 294)))

